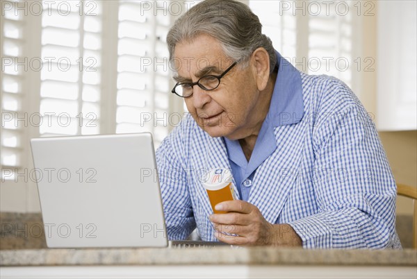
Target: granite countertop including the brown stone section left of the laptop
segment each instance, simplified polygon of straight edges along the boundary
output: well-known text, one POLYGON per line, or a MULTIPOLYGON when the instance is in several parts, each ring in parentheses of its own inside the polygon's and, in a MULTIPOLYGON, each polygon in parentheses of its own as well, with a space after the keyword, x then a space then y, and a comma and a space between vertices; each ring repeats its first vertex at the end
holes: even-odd
POLYGON ((0 212, 0 266, 277 266, 417 267, 417 251, 304 250, 274 247, 47 248, 39 213, 0 212))

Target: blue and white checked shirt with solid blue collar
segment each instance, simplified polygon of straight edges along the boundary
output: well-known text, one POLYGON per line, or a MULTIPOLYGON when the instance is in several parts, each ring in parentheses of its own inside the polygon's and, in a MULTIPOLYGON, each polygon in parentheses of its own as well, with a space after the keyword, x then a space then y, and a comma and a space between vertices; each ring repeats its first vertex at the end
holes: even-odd
POLYGON ((290 224, 304 248, 400 248, 395 181, 363 105, 338 79, 303 74, 279 53, 277 62, 250 162, 239 165, 240 146, 210 137, 191 116, 156 151, 169 239, 186 239, 197 227, 203 240, 217 241, 201 181, 222 167, 234 172, 240 199, 268 222, 290 224))

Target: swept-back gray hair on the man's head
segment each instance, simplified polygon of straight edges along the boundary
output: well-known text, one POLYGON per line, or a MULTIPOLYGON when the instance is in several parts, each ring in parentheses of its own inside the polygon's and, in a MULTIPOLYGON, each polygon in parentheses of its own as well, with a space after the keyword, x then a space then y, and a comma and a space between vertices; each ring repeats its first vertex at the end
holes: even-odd
POLYGON ((218 39, 224 54, 234 61, 247 60, 255 49, 263 47, 269 54, 271 72, 277 64, 274 47, 262 34, 259 18, 244 3, 233 0, 202 1, 179 17, 167 34, 170 63, 176 44, 203 33, 218 39))

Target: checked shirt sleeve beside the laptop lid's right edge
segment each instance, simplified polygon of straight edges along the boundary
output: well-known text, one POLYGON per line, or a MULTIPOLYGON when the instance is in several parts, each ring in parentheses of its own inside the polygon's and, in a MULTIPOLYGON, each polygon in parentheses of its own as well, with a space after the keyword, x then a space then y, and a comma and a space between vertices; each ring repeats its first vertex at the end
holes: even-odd
POLYGON ((181 164, 179 128, 175 128, 156 151, 167 237, 170 240, 186 239, 196 226, 187 175, 181 164))

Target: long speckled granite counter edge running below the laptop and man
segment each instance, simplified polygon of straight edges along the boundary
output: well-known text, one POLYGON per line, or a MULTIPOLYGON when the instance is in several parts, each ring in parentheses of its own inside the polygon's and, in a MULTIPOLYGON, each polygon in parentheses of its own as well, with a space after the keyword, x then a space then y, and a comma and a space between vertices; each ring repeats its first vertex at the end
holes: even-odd
POLYGON ((417 266, 417 251, 303 250, 302 248, 110 248, 0 251, 0 266, 57 265, 361 265, 417 266))

